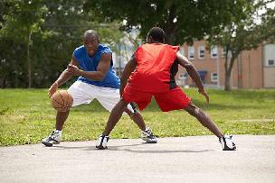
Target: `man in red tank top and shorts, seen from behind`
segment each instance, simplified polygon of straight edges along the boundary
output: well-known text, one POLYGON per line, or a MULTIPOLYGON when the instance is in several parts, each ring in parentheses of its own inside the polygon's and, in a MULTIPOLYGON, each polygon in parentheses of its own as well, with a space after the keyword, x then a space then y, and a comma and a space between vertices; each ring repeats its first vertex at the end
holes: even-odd
POLYGON ((152 28, 147 33, 147 43, 138 47, 128 61, 120 79, 121 99, 109 115, 108 123, 100 135, 97 148, 107 148, 106 143, 106 147, 104 147, 100 142, 104 142, 105 136, 109 138, 109 133, 118 123, 129 103, 136 103, 138 108, 143 110, 154 96, 162 111, 180 109, 187 111, 219 138, 223 151, 235 150, 236 146, 232 142, 232 136, 223 135, 208 115, 194 105, 191 98, 176 86, 175 74, 179 64, 194 80, 198 92, 209 102, 209 96, 194 65, 178 51, 177 46, 171 46, 164 42, 165 32, 159 27, 152 28))

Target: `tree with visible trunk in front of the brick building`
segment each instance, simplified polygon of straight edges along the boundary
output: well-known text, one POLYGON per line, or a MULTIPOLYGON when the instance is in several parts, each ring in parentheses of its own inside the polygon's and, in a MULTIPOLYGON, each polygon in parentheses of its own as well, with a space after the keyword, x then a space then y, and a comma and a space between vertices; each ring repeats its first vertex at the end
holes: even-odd
POLYGON ((255 49, 262 41, 274 41, 275 11, 268 7, 270 2, 263 0, 254 4, 253 1, 248 1, 245 6, 236 6, 239 11, 232 10, 231 22, 223 24, 220 33, 208 38, 210 45, 219 45, 225 49, 224 90, 232 89, 230 83, 232 67, 242 50, 255 49), (262 9, 266 10, 266 13, 260 16, 259 12, 262 9), (231 53, 230 58, 228 57, 229 52, 231 53))

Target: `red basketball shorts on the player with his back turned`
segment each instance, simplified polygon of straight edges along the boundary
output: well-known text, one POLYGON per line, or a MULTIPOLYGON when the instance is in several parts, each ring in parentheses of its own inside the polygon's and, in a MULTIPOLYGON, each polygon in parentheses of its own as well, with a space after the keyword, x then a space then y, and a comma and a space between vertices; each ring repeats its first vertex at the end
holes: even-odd
POLYGON ((143 110, 151 102, 152 96, 155 96, 159 108, 164 111, 185 109, 191 102, 191 98, 186 96, 180 87, 175 87, 166 92, 152 93, 135 90, 126 86, 122 98, 127 102, 135 102, 140 110, 143 110))

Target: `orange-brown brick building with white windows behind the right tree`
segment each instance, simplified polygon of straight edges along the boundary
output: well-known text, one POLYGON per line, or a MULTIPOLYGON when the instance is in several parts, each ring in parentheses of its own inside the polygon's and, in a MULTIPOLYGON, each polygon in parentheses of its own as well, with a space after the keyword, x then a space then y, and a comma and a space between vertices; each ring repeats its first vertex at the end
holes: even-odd
MULTIPOLYGON (((213 46, 206 50, 205 41, 194 41, 193 46, 181 46, 181 52, 194 63, 205 87, 224 87, 223 48, 213 46)), ((182 67, 176 78, 181 86, 194 86, 182 67)), ((234 62, 231 84, 232 88, 275 87, 275 44, 261 44, 255 50, 242 51, 234 62)))

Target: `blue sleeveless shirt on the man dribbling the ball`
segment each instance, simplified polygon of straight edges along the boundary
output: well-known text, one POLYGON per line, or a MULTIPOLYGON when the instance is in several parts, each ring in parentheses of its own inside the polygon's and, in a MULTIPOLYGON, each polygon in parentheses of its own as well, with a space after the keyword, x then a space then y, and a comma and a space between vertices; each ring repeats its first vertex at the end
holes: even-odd
MULTIPOLYGON (((82 70, 97 71, 101 55, 104 53, 112 53, 112 51, 109 49, 108 46, 99 44, 98 50, 96 50, 94 56, 90 58, 84 45, 82 45, 81 47, 76 48, 73 51, 73 56, 79 63, 79 66, 82 70)), ((98 87, 119 88, 120 85, 119 77, 116 75, 116 72, 113 69, 112 59, 110 60, 109 70, 106 73, 105 78, 103 78, 101 81, 95 81, 84 77, 79 77, 78 80, 98 87)))

